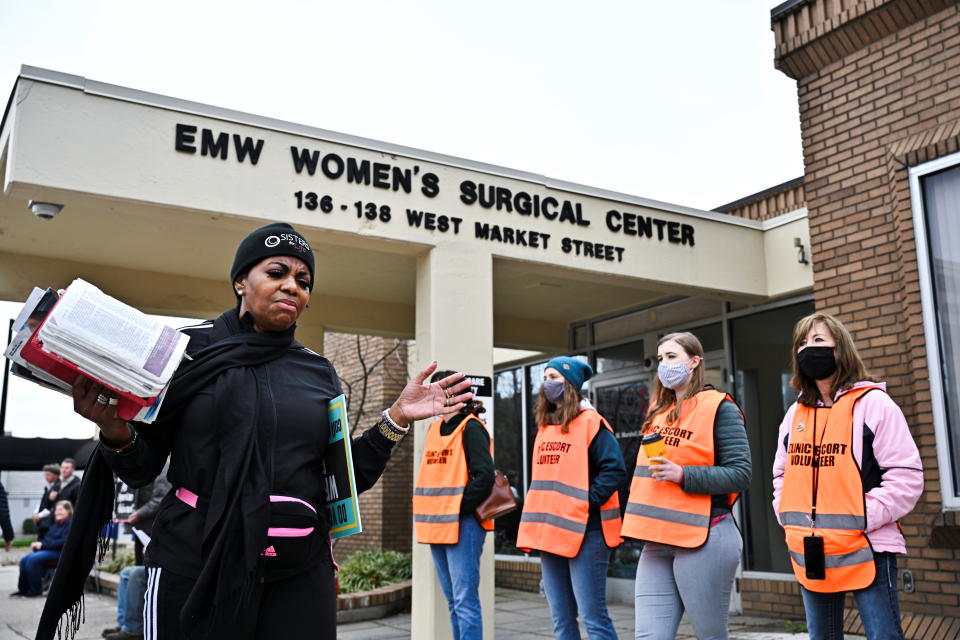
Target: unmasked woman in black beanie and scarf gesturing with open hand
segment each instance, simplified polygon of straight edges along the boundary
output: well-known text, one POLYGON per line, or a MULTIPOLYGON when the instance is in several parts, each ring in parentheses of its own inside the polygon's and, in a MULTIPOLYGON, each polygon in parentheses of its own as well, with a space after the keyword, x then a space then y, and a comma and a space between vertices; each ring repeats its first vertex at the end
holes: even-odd
MULTIPOLYGON (((52 637, 64 613, 68 630, 77 628, 82 577, 110 518, 110 471, 141 486, 168 455, 174 489, 147 547, 144 636, 253 640, 282 629, 285 637, 336 637, 329 523, 320 507, 327 405, 341 389, 333 365, 294 340, 313 278, 313 252, 299 232, 284 223, 257 229, 230 271, 237 306, 184 329, 188 359, 156 422, 127 423, 108 389, 74 386, 77 413, 101 429, 100 455, 77 509, 85 526, 74 525, 64 551, 77 556, 76 567, 63 577, 58 571, 38 638, 52 637)), ((412 421, 459 411, 472 397, 463 374, 426 384, 436 366, 353 440, 358 491, 374 485, 412 421)))

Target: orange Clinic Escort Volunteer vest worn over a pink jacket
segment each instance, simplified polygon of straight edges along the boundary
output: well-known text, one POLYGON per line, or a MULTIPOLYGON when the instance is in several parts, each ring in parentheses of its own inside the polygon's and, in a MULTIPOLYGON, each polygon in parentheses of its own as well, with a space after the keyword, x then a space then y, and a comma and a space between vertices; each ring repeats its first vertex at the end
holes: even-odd
POLYGON ((810 591, 864 589, 876 577, 873 549, 864 534, 867 505, 863 479, 853 458, 853 407, 873 389, 882 387, 849 391, 829 408, 798 404, 793 417, 778 515, 786 533, 793 573, 810 591), (815 467, 819 468, 816 511, 815 467), (807 578, 803 539, 810 535, 823 537, 824 580, 807 578))

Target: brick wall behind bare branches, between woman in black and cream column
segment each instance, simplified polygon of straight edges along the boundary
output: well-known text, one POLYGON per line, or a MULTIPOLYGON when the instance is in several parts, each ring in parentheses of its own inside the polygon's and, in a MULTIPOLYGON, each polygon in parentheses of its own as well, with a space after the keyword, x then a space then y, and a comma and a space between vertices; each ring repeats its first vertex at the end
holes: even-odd
MULTIPOLYGON (((407 344, 401 340, 328 332, 324 354, 333 362, 347 396, 354 436, 376 422, 407 380, 407 344)), ((410 551, 413 438, 397 445, 380 481, 360 496, 363 533, 339 540, 338 559, 359 549, 410 551)))

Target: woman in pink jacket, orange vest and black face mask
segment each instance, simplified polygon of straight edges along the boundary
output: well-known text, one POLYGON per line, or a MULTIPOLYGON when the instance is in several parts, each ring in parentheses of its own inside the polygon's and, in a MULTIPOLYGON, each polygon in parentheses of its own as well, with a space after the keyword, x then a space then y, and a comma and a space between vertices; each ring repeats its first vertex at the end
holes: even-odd
POLYGON ((777 437, 773 510, 810 638, 843 637, 851 593, 870 640, 901 639, 897 554, 907 548, 898 520, 923 493, 917 445, 839 320, 825 313, 801 319, 791 353, 790 384, 799 395, 777 437))

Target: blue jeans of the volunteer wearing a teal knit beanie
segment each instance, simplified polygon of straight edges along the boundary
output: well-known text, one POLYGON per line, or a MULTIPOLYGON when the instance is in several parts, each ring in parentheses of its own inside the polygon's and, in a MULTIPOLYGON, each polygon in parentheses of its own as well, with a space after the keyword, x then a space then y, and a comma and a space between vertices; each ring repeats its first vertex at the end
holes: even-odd
POLYGON ((557 640, 580 640, 577 614, 583 614, 591 640, 617 640, 617 631, 607 613, 607 565, 610 547, 600 529, 587 531, 580 551, 573 558, 540 554, 543 591, 553 616, 557 640))

